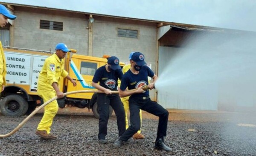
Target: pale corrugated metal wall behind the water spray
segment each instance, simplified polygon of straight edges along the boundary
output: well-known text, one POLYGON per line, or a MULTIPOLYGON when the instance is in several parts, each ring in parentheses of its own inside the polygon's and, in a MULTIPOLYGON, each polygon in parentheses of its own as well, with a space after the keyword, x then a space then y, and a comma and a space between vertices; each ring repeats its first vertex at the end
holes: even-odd
MULTIPOLYGON (((180 48, 175 47, 159 47, 159 65, 158 75, 168 66, 169 61, 178 53, 180 48)), ((180 91, 179 91, 180 92, 180 91)), ((211 97, 212 98, 212 97, 211 97)), ((200 97, 184 97, 179 94, 169 94, 167 92, 158 91, 157 102, 167 109, 186 109, 186 110, 217 110, 218 97, 212 99, 200 97)))

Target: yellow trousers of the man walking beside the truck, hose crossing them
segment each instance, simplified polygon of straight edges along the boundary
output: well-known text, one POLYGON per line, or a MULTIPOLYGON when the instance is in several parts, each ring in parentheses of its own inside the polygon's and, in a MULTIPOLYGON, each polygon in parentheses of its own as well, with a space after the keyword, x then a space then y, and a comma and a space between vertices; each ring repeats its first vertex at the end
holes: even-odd
MULTIPOLYGON (((49 99, 57 96, 55 91, 42 91, 38 90, 38 95, 44 99, 44 102, 47 102, 49 99)), ((44 106, 44 116, 41 119, 41 122, 38 124, 38 130, 46 130, 47 133, 50 133, 52 121, 54 116, 58 112, 58 102, 54 100, 48 105, 44 106)))

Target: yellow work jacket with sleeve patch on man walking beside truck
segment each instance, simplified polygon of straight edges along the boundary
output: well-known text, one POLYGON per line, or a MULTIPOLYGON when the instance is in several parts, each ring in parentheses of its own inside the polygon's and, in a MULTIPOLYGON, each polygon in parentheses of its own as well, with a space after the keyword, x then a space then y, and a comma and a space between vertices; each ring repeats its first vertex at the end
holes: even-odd
POLYGON ((59 85, 61 77, 67 77, 68 73, 64 69, 64 59, 59 59, 56 54, 48 57, 38 77, 38 89, 55 91, 52 83, 59 85))

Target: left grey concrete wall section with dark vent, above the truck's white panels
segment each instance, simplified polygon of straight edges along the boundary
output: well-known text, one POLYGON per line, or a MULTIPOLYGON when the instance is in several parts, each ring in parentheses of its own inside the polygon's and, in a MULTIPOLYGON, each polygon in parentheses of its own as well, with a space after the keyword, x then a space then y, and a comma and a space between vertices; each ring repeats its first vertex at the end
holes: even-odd
POLYGON ((15 15, 13 46, 55 51, 55 45, 63 42, 78 54, 87 54, 87 15, 17 6, 15 15), (41 29, 40 20, 63 22, 63 31, 41 29))

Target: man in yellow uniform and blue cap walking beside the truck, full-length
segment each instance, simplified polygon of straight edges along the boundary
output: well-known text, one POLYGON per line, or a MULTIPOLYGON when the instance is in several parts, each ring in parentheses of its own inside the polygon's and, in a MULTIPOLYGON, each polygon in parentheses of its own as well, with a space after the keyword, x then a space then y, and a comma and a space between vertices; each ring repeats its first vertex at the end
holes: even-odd
MULTIPOLYGON (((55 96, 63 98, 63 92, 59 90, 60 77, 67 78, 76 86, 76 82, 68 76, 67 71, 64 70, 64 58, 69 49, 64 43, 58 43, 55 48, 55 54, 48 57, 38 78, 38 95, 47 102, 55 96)), ((54 116, 58 112, 57 100, 50 102, 44 107, 44 116, 38 125, 35 132, 42 139, 56 139, 57 136, 50 133, 51 125, 54 116)))

